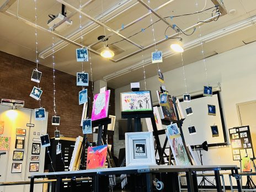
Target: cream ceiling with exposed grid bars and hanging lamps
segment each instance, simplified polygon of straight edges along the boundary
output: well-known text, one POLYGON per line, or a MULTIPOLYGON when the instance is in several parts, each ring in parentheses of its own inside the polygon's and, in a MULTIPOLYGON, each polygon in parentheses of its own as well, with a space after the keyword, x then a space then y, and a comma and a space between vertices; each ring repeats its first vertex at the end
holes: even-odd
MULTIPOLYGON (((8 0, 7 0, 8 1, 8 0)), ((13 0, 10 0, 13 1, 13 0)), ((179 15, 186 13, 194 13, 198 10, 201 10, 205 5, 205 0, 197 0, 198 8, 196 8, 196 0, 151 0, 150 6, 152 9, 156 9, 164 3, 168 4, 162 8, 159 8, 156 12, 162 17, 167 17, 171 15, 179 15)), ((1 5, 6 2, 5 0, 0 0, 1 5)), ((73 7, 79 8, 80 1, 78 0, 66 0, 68 4, 71 4, 73 7)), ((213 7, 214 4, 211 0, 206 0, 206 8, 213 7)), ((216 22, 206 23, 200 28, 197 28, 195 33, 191 36, 182 35, 184 44, 196 40, 201 36, 206 36, 212 34, 215 31, 227 28, 230 25, 234 25, 238 22, 241 22, 245 19, 253 17, 256 15, 256 1, 254 0, 225 0, 223 1, 227 11, 231 9, 236 9, 235 14, 226 14, 220 17, 216 22)), ((109 26, 111 29, 118 31, 120 34, 128 37, 142 28, 151 24, 151 17, 148 9, 143 7, 141 3, 136 0, 82 0, 82 4, 88 3, 86 7, 82 9, 83 13, 90 15, 90 17, 97 18, 105 25, 109 26), (103 11, 102 11, 103 10, 103 11), (104 12, 104 14, 102 14, 104 12), (122 25, 126 26, 127 24, 133 22, 134 20, 142 17, 142 15, 148 14, 147 17, 141 19, 135 24, 121 30, 122 25)), ((145 1, 147 4, 148 2, 145 1)), ((55 0, 44 0, 36 1, 37 4, 37 14, 38 14, 38 25, 42 28, 49 29, 47 26, 47 20, 50 18, 48 14, 57 14, 61 13, 61 3, 55 0)), ((67 6, 67 16, 71 15, 75 11, 67 6)), ((152 20, 155 22, 158 20, 156 15, 152 14, 152 20)), ((185 29, 189 26, 196 24, 199 20, 205 20, 211 17, 210 10, 206 11, 204 14, 199 13, 195 15, 189 15, 184 17, 177 18, 167 18, 167 21, 170 24, 178 25, 179 28, 185 29), (199 19, 199 20, 198 20, 199 19)), ((34 1, 14 1, 12 6, 7 9, 7 12, 0 13, 0 50, 8 52, 22 58, 26 58, 31 61, 35 61, 35 28, 28 25, 24 22, 24 18, 29 22, 35 22, 35 2, 34 1), (19 2, 19 5, 18 5, 19 2), (18 8, 18 9, 17 9, 18 8), (17 14, 18 13, 18 14, 17 14), (10 16, 10 15, 13 15, 10 16), (18 15, 15 17, 15 15, 18 15)), ((61 36, 66 36, 66 38, 78 42, 81 44, 81 33, 79 30, 80 19, 79 13, 76 13, 71 18, 73 25, 69 26, 66 30, 61 32, 55 31, 56 34, 61 36)), ((83 34, 83 45, 89 46, 92 45, 92 49, 100 52, 103 47, 103 42, 97 43, 97 37, 99 35, 111 35, 109 30, 104 30, 102 26, 92 23, 88 18, 82 15, 81 20, 82 26, 86 26, 82 30, 83 34)), ((167 28, 167 24, 160 21, 153 25, 154 27, 154 37, 156 41, 164 39, 164 31, 167 28)), ((204 52, 205 56, 211 56, 220 54, 227 50, 234 49, 235 47, 242 46, 244 43, 249 43, 256 40, 256 28, 255 25, 249 26, 247 28, 233 31, 233 33, 226 34, 225 36, 218 36, 217 39, 211 40, 204 43, 204 52)), ((191 31, 187 32, 188 34, 191 31)), ((167 30, 167 35, 173 35, 175 31, 172 29, 167 30)), ((51 33, 38 29, 38 50, 39 53, 49 50, 51 53, 52 45, 52 35, 51 33)), ((108 44, 111 44, 115 41, 122 40, 118 35, 111 35, 108 44)), ((146 29, 144 32, 139 33, 130 38, 131 41, 135 42, 137 45, 146 47, 154 43, 152 28, 146 29)), ((55 47, 55 62, 56 68, 60 71, 67 72, 75 75, 76 72, 82 71, 81 62, 76 62, 76 52, 75 50, 78 46, 73 44, 68 44, 68 42, 63 41, 59 38, 54 39, 55 42, 59 42, 60 46, 55 47)), ((167 40, 156 46, 158 50, 163 52, 169 51, 169 45, 174 40, 167 40)), ((132 54, 135 51, 140 50, 135 45, 132 45, 126 40, 110 45, 110 48, 115 50, 114 60, 119 60, 122 57, 125 57, 129 54, 132 54)), ((146 60, 151 57, 151 52, 155 50, 155 47, 143 51, 143 58, 146 60)), ((49 55, 48 54, 48 55, 49 55)), ((185 50, 184 54, 185 65, 198 61, 202 59, 201 47, 195 46, 192 49, 185 50)), ((39 62, 42 65, 52 67, 52 57, 45 56, 46 58, 39 58, 39 62)), ((93 67, 93 80, 103 79, 103 77, 108 76, 109 74, 115 74, 126 67, 134 66, 136 63, 142 61, 141 51, 138 54, 130 56, 119 62, 113 62, 106 60, 99 55, 92 53, 92 67, 93 67)), ((160 63, 161 70, 168 71, 174 68, 180 67, 181 56, 173 55, 170 57, 164 56, 163 63, 160 63)), ((89 62, 83 63, 84 71, 90 72, 89 62)), ((157 65, 151 64, 146 66, 146 76, 151 77, 157 74, 157 65)), ((39 68, 40 70, 40 68, 39 68)), ((113 88, 118 88, 125 86, 133 81, 138 81, 143 78, 142 68, 138 70, 122 74, 119 77, 111 78, 108 81, 108 86, 113 88)))

